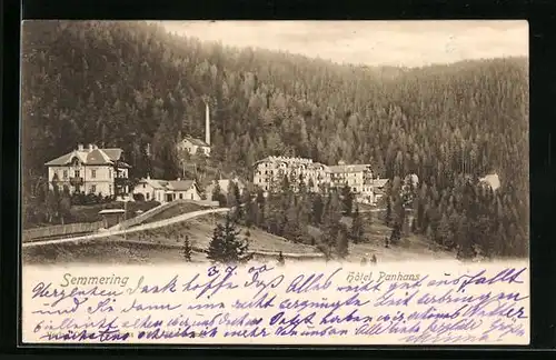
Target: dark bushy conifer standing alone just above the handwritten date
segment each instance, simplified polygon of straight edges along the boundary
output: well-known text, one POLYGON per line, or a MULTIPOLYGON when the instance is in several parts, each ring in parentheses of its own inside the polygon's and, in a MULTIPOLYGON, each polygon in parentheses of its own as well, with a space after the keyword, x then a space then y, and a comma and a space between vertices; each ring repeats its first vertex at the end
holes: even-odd
POLYGON ((218 223, 212 233, 207 258, 215 262, 241 263, 252 258, 249 253, 248 239, 239 238, 240 230, 236 229, 236 223, 230 216, 226 217, 224 224, 218 223))

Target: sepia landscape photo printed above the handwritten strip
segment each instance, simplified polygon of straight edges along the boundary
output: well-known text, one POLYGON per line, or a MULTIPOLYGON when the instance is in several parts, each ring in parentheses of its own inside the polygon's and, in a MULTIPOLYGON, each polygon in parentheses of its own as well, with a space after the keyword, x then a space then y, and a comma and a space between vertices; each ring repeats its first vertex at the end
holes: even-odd
POLYGON ((24 21, 26 263, 528 258, 526 21, 24 21))

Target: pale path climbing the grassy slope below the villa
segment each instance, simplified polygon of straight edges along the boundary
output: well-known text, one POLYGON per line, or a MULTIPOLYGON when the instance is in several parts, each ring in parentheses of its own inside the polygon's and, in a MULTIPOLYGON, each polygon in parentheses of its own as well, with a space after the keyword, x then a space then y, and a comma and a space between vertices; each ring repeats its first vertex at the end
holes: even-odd
POLYGON ((206 214, 210 213, 220 213, 220 212, 228 212, 230 209, 229 208, 218 208, 218 209, 209 209, 209 210, 198 210, 198 211, 192 211, 188 213, 183 213, 170 219, 165 219, 151 223, 146 223, 142 226, 137 226, 131 229, 126 229, 126 230, 108 230, 108 231, 102 231, 102 232, 97 232, 93 234, 88 234, 88 236, 82 236, 82 237, 76 237, 76 238, 68 238, 68 239, 56 239, 56 240, 43 240, 43 241, 33 241, 33 242, 23 242, 22 247, 23 248, 30 248, 30 247, 37 247, 37 246, 46 246, 46 244, 59 244, 59 243, 66 243, 66 242, 78 242, 78 241, 86 241, 86 240, 95 240, 95 239, 101 239, 101 238, 108 238, 112 236, 121 236, 121 234, 128 234, 132 232, 138 232, 138 231, 143 231, 143 230, 150 230, 150 229, 157 229, 157 228, 162 228, 167 227, 172 223, 178 223, 185 220, 189 220, 192 218, 197 217, 202 217, 206 214))

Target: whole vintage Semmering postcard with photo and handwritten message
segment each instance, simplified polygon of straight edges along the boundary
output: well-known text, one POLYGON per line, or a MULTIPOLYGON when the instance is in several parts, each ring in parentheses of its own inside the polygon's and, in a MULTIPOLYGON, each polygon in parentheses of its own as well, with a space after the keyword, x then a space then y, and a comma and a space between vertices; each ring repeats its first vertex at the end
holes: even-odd
POLYGON ((527 41, 23 21, 22 344, 528 344, 527 41))

